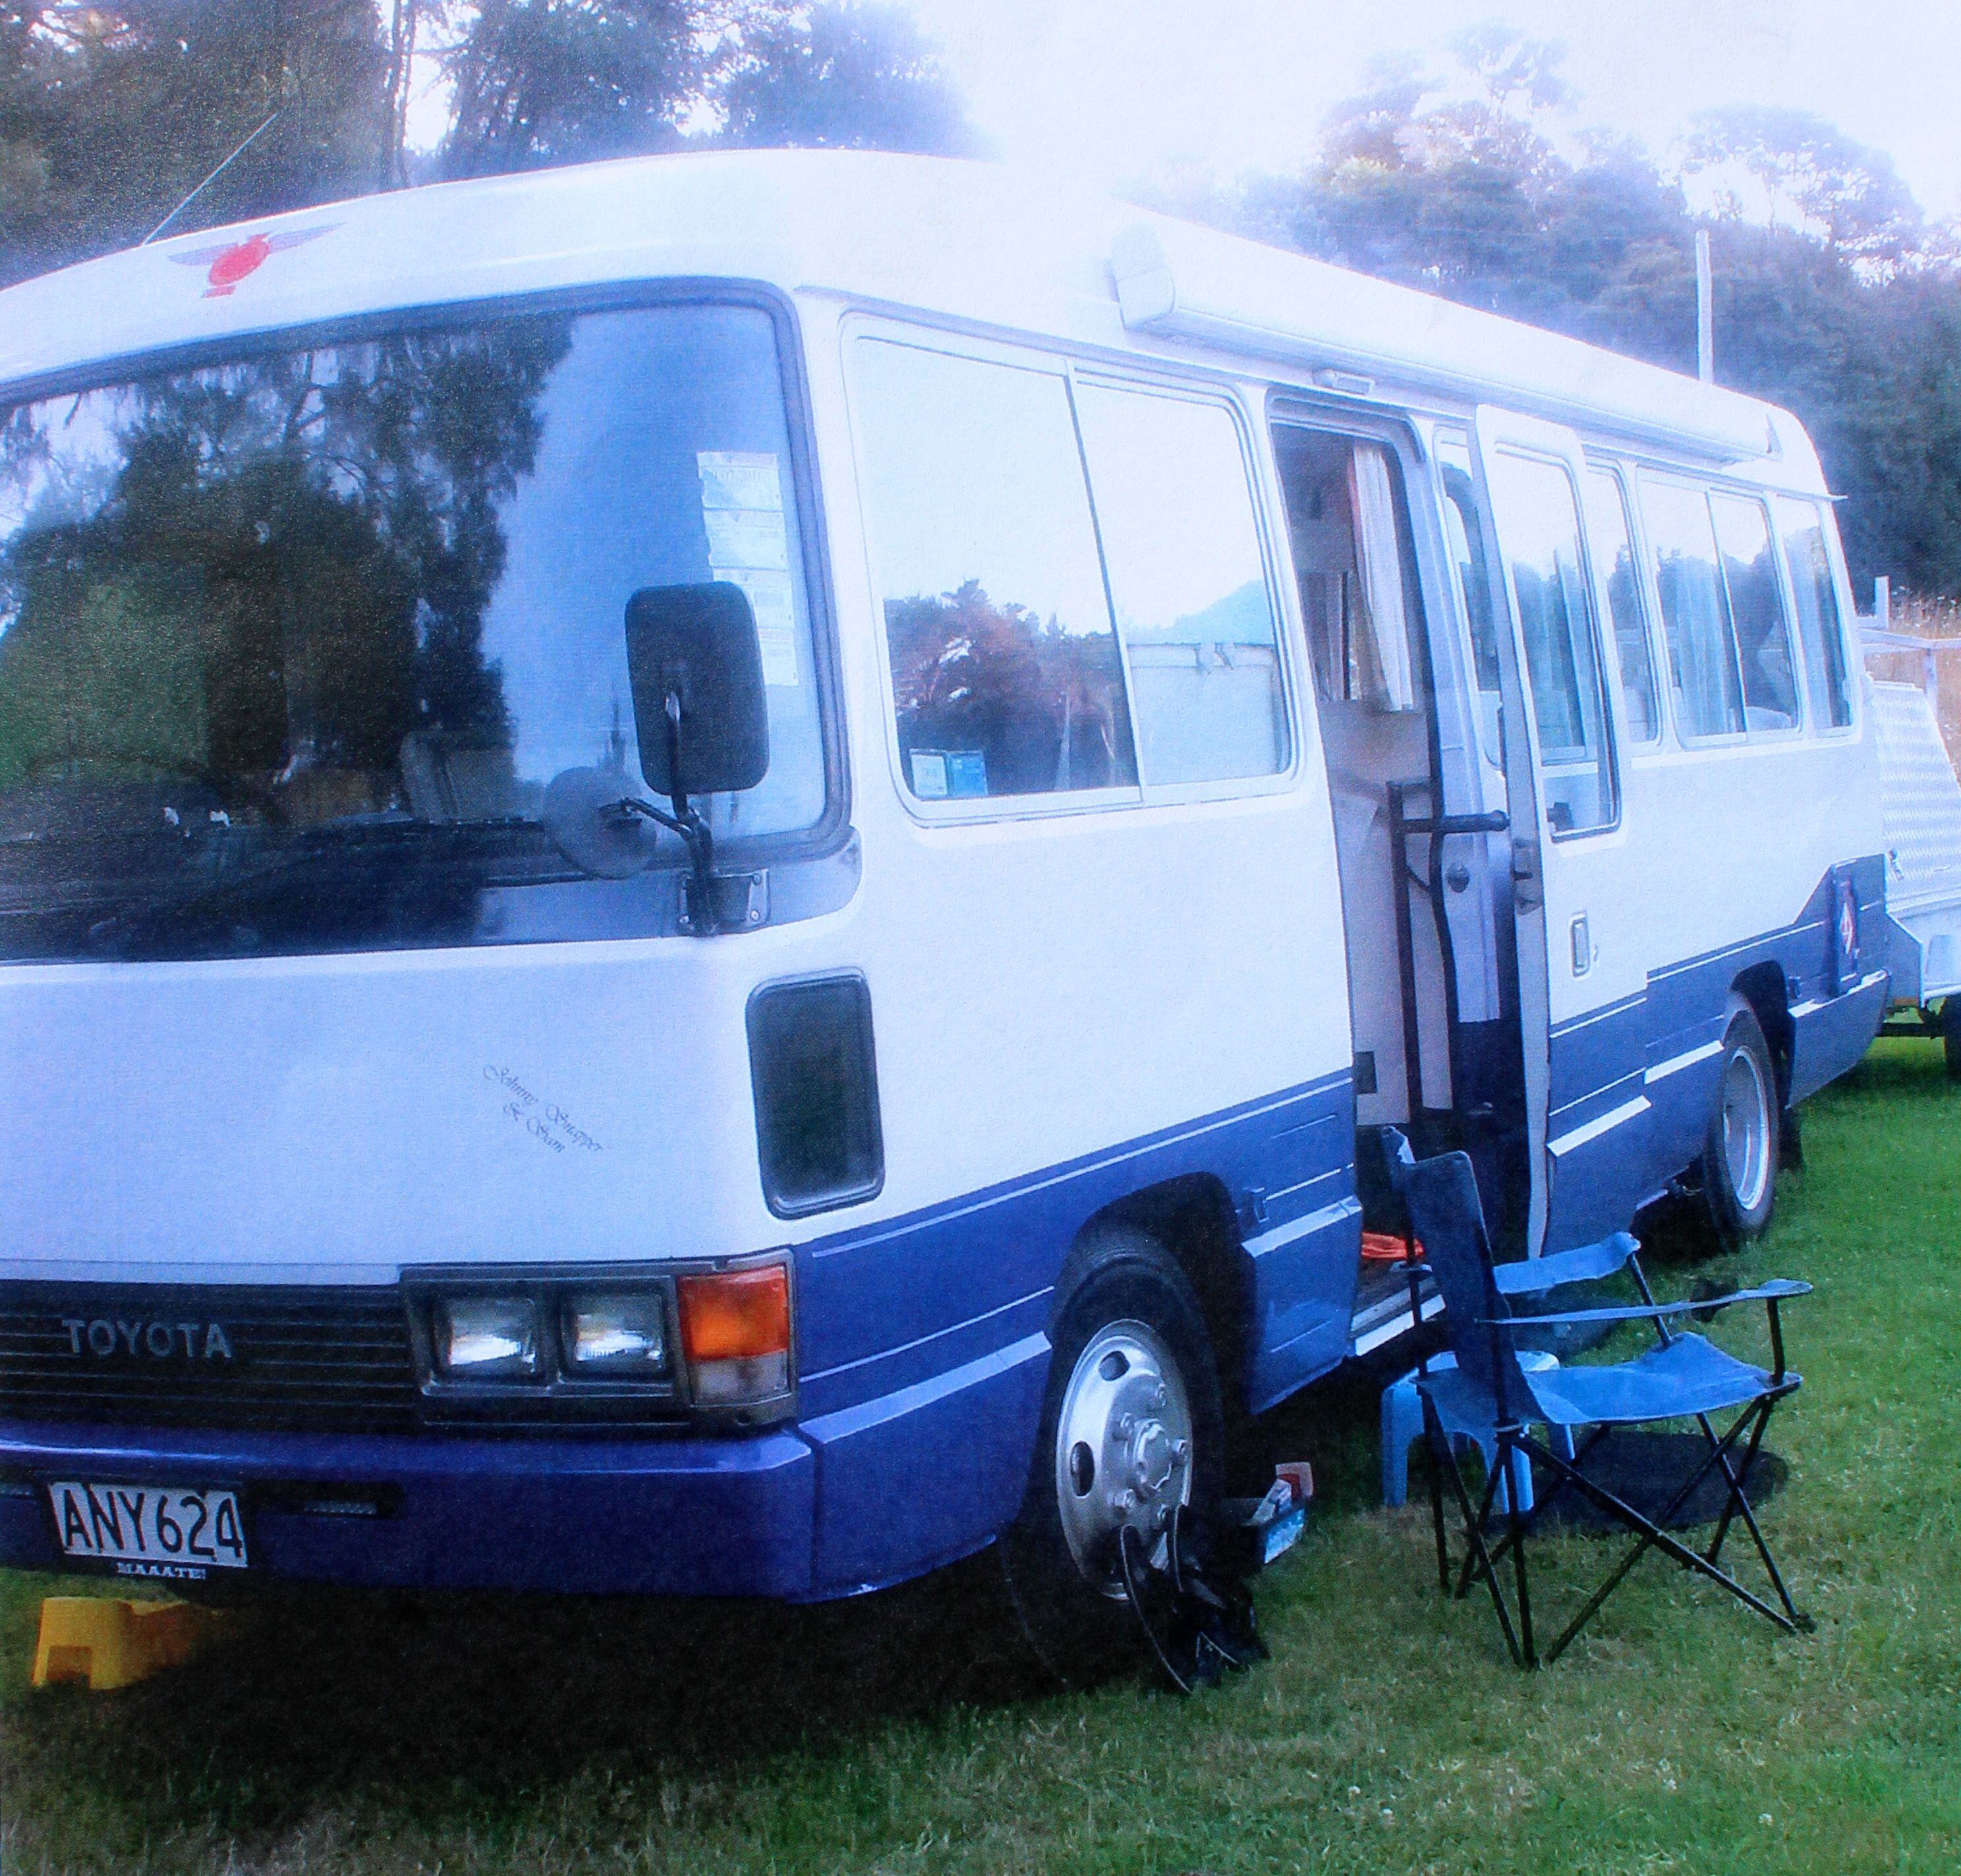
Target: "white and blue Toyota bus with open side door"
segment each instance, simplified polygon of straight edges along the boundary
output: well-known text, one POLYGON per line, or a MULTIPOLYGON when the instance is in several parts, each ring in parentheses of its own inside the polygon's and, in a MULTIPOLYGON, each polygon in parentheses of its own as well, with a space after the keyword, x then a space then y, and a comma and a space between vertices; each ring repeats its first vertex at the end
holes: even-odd
POLYGON ((12 288, 0 425, 12 1566, 1094 1662, 1377 1129, 1743 1237, 1886 1002, 1804 431, 1422 294, 663 157, 12 288))

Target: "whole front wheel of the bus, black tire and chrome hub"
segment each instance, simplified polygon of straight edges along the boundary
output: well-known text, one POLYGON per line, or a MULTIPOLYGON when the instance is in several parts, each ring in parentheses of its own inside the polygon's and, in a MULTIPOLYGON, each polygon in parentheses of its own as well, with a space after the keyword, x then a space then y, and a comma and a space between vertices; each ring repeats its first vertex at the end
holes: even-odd
POLYGON ((1224 1409, 1198 1298, 1141 1231, 1086 1247, 1053 1347, 1028 1492, 1000 1560, 1041 1662, 1088 1684, 1139 1645, 1118 1533, 1128 1525, 1155 1547, 1177 1506, 1218 1498, 1224 1409))

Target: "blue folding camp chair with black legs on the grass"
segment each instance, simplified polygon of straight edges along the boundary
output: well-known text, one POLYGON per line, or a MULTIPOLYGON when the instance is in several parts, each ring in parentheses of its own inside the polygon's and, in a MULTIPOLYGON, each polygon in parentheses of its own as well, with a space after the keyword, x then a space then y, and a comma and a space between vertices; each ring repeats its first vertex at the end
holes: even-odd
POLYGON ((1810 1619, 1792 1604, 1785 1578, 1771 1556, 1771 1547, 1763 1541, 1763 1531, 1757 1529, 1757 1517, 1743 1494, 1743 1484, 1763 1445, 1763 1429, 1771 1419, 1771 1409, 1786 1394, 1794 1394, 1800 1380, 1785 1368, 1779 1304, 1792 1296, 1808 1296, 1812 1286, 1779 1278, 1759 1284, 1755 1290, 1737 1290, 1732 1296, 1657 1304, 1641 1274, 1635 1255, 1639 1245, 1626 1231, 1579 1251, 1561 1251, 1528 1262, 1494 1264, 1469 1155, 1443 1153, 1418 1162, 1410 1153, 1410 1143, 1394 1129, 1384 1131, 1384 1145, 1390 1180, 1408 1208, 1410 1227, 1424 1251, 1424 1260, 1410 1266, 1412 1294, 1424 1274, 1435 1278, 1437 1290, 1443 1294, 1451 1353, 1457 1357, 1455 1368, 1420 1376, 1416 1384, 1424 1402, 1424 1433, 1430 1443, 1430 1513, 1435 1525, 1437 1582, 1443 1594, 1453 1594, 1449 1541, 1443 1531, 1443 1480, 1447 1478, 1469 1545, 1457 1572, 1455 1594, 1467 1596, 1471 1584, 1483 1578, 1490 1586, 1498 1627, 1504 1631, 1512 1658, 1522 1668, 1535 1668, 1539 1654, 1532 1635, 1526 1535, 1559 1502, 1563 1492, 1573 1490, 1634 1531, 1637 1543, 1622 1556, 1606 1582, 1586 1598, 1584 1607, 1567 1623, 1559 1641, 1547 1649, 1547 1662, 1559 1658, 1567 1643, 1586 1627, 1651 1549, 1663 1551, 1683 1568, 1722 1584, 1732 1596, 1759 1615, 1767 1615, 1781 1629, 1808 1629, 1810 1619), (1541 1296, 1559 1284, 1618 1276, 1624 1270, 1641 1292, 1637 1308, 1569 1309, 1559 1315, 1518 1319, 1512 1315, 1512 1298, 1541 1296), (1669 1327, 1690 1311, 1716 1311, 1743 1302, 1761 1302, 1769 1311, 1773 1362, 1769 1372, 1726 1355, 1700 1335, 1669 1327), (1516 1335, 1522 1327, 1624 1321, 1653 1323, 1657 1345, 1634 1360, 1604 1366, 1569 1362, 1553 1370, 1534 1372, 1518 1360, 1516 1335), (1737 1417, 1718 1437, 1710 1415, 1730 1409, 1739 1409, 1737 1417), (1443 1425, 1447 1419, 1461 1421, 1477 1413, 1483 1413, 1498 1429, 1498 1462, 1488 1468, 1484 1498, 1473 1509, 1471 1494, 1465 1490, 1463 1472, 1457 1466, 1455 1447, 1445 1437, 1443 1425), (1663 1419, 1692 1419, 1702 1429, 1708 1447, 1700 1464, 1688 1472, 1663 1509, 1649 1517, 1590 1476, 1586 1462, 1616 1427, 1663 1419), (1528 1437, 1528 1423, 1590 1431, 1579 1449, 1565 1456, 1528 1437), (1737 1441, 1743 1441, 1741 1464, 1735 1462, 1737 1441), (1508 1476, 1514 1453, 1535 1458, 1551 1476, 1553 1488, 1543 1492, 1528 1511, 1520 1511, 1518 1494, 1504 1494, 1504 1533, 1496 1543, 1486 1543, 1484 1529, 1498 1496, 1498 1480, 1508 1476), (1714 1541, 1708 1551, 1698 1553, 1671 1535, 1667 1525, 1712 1472, 1722 1474, 1728 1496, 1714 1541), (1757 1555, 1763 1558, 1763 1568, 1783 1609, 1745 1590, 1718 1566, 1724 1541, 1735 1519, 1743 1521, 1757 1545, 1757 1555), (1516 1625, 1498 1582, 1498 1564, 1506 1555, 1512 1558, 1516 1625))

